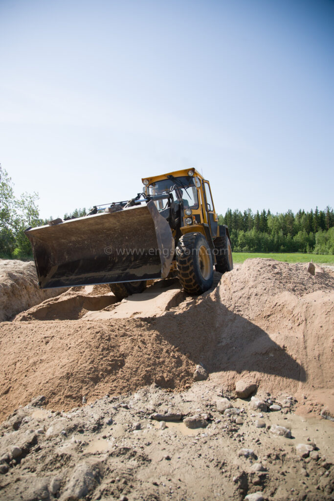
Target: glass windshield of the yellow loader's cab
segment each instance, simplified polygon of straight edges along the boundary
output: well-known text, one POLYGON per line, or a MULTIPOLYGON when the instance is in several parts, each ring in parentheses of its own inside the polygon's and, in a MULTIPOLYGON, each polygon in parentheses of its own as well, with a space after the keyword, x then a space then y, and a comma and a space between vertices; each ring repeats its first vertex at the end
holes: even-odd
MULTIPOLYGON (((173 177, 173 179, 162 179, 148 186, 150 195, 160 195, 161 193, 170 193, 173 191, 175 203, 180 203, 182 200, 185 209, 198 208, 197 189, 194 176, 173 177)), ((166 206, 165 200, 158 200, 156 205, 159 210, 166 206), (161 203, 160 203, 161 202, 161 203)))

